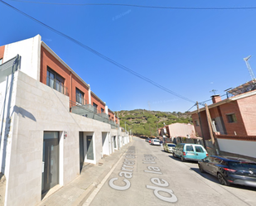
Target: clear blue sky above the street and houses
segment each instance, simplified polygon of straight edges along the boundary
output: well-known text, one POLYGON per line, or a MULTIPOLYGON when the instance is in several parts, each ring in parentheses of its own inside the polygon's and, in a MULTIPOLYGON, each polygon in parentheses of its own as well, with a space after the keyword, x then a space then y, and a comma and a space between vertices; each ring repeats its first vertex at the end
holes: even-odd
POLYGON ((0 11, 0 46, 41 35, 41 40, 90 84, 112 111, 194 111, 196 101, 211 104, 207 100, 213 89, 223 95, 225 89, 251 80, 244 57, 252 55, 249 64, 256 72, 255 0, 0 0, 0 11), (85 3, 113 5, 82 5, 85 3), (253 8, 216 9, 234 7, 253 8))

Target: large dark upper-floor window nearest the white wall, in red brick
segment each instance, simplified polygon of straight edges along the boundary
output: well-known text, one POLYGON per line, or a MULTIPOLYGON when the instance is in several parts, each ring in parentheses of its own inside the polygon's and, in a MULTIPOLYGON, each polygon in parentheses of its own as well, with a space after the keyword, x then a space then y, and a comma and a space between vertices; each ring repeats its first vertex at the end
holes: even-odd
POLYGON ((52 89, 56 89, 60 93, 64 93, 64 78, 62 78, 50 67, 47 68, 46 85, 52 89))

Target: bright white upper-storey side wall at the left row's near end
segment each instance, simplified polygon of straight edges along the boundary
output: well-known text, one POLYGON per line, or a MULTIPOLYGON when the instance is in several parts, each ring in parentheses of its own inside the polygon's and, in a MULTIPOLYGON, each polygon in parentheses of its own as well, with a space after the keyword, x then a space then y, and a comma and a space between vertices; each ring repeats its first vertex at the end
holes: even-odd
POLYGON ((6 45, 2 63, 16 55, 22 56, 21 71, 33 79, 40 80, 41 36, 6 45))

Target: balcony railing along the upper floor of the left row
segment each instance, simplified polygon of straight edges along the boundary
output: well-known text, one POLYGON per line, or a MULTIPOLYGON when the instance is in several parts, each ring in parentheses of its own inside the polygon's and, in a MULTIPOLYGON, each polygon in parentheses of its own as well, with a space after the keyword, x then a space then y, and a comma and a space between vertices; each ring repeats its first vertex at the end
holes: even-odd
POLYGON ((109 120, 109 116, 106 113, 98 113, 97 108, 94 108, 91 104, 78 104, 70 101, 70 112, 79 114, 83 117, 92 118, 100 122, 109 123, 113 127, 117 127, 114 121, 109 120))

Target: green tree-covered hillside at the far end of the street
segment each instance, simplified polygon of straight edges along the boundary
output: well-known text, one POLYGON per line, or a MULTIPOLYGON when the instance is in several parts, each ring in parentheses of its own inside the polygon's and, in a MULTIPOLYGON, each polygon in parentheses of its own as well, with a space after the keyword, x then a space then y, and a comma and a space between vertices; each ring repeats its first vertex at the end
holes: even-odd
POLYGON ((157 136, 157 128, 163 127, 164 122, 166 125, 181 122, 191 123, 192 119, 188 112, 159 112, 147 111, 145 109, 135 109, 131 111, 122 110, 115 112, 120 118, 120 126, 137 136, 157 136), (125 123, 126 122, 126 123, 125 123))

